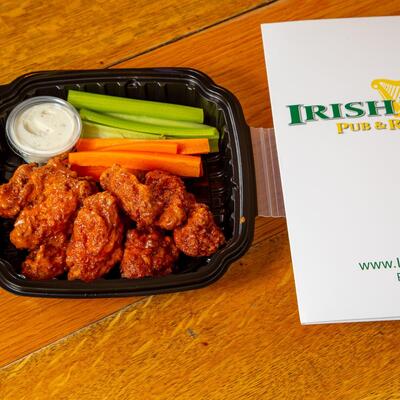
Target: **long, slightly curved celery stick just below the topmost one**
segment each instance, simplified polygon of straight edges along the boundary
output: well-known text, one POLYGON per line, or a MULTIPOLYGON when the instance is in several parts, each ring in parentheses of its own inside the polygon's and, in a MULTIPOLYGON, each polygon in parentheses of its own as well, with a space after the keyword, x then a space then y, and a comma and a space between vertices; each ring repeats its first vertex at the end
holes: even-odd
POLYGON ((166 135, 180 138, 212 138, 218 135, 218 131, 214 127, 205 127, 200 129, 176 126, 150 125, 144 124, 142 122, 115 118, 109 115, 100 114, 86 109, 81 109, 80 115, 81 118, 85 121, 112 126, 114 128, 128 129, 131 131, 153 133, 158 135, 166 135))

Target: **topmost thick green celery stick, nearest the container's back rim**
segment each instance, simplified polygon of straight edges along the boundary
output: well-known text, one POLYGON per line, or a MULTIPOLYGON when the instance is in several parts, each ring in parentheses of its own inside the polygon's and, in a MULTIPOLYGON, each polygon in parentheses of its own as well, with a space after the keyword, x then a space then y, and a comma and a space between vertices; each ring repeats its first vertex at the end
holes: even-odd
POLYGON ((68 91, 68 101, 76 108, 87 108, 97 112, 138 114, 198 123, 202 123, 204 119, 202 108, 108 96, 77 90, 68 91))

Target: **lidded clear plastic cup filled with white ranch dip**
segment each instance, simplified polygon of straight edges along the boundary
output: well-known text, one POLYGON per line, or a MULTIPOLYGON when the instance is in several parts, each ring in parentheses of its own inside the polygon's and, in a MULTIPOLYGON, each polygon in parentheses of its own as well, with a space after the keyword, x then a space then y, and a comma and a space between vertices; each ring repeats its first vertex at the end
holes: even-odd
POLYGON ((56 97, 33 97, 20 103, 7 120, 10 147, 27 162, 45 163, 71 150, 81 133, 78 112, 56 97))

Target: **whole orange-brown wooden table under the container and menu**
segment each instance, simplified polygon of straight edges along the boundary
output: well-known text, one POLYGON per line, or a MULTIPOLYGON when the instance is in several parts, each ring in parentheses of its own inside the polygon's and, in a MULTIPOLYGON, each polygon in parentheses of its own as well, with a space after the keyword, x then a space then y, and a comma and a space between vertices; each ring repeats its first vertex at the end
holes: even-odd
MULTIPOLYGON (((399 13, 398 0, 3 0, 0 82, 194 67, 236 94, 249 125, 269 127, 261 23, 399 13)), ((249 252, 205 289, 97 300, 0 290, 0 398, 400 398, 398 328, 301 326, 285 221, 258 218, 249 252)))

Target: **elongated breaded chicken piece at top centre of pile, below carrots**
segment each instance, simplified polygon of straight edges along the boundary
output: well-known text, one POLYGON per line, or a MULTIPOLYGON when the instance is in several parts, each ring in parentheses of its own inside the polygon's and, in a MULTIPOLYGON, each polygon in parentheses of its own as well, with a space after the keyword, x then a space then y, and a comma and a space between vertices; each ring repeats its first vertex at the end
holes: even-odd
POLYGON ((139 228, 154 223, 159 213, 151 190, 139 182, 137 177, 119 165, 106 169, 100 184, 104 190, 115 195, 125 212, 139 228))

